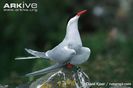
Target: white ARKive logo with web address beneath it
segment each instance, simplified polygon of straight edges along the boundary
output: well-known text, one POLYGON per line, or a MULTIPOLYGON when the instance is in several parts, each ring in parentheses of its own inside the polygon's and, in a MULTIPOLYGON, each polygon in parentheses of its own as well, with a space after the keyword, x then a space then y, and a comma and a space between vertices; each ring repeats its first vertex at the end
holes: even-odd
POLYGON ((37 12, 37 3, 5 3, 3 11, 34 11, 37 12))

